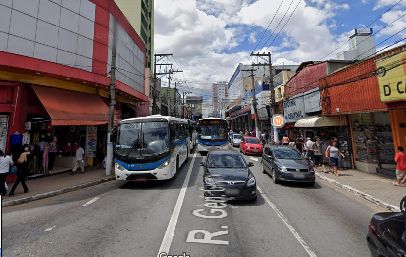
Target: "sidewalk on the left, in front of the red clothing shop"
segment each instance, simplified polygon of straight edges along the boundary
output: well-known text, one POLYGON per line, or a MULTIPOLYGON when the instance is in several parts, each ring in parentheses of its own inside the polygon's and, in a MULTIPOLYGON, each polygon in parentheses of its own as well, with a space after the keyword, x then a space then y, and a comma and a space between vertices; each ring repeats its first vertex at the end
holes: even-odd
POLYGON ((5 207, 27 203, 115 180, 114 169, 112 172, 112 175, 106 176, 105 169, 88 167, 85 169, 85 173, 81 173, 80 170, 78 170, 75 175, 71 175, 70 172, 65 172, 52 176, 30 179, 26 181, 29 193, 24 194, 23 187, 19 184, 15 190, 14 197, 8 196, 14 183, 8 183, 7 196, 2 198, 1 206, 5 207))

